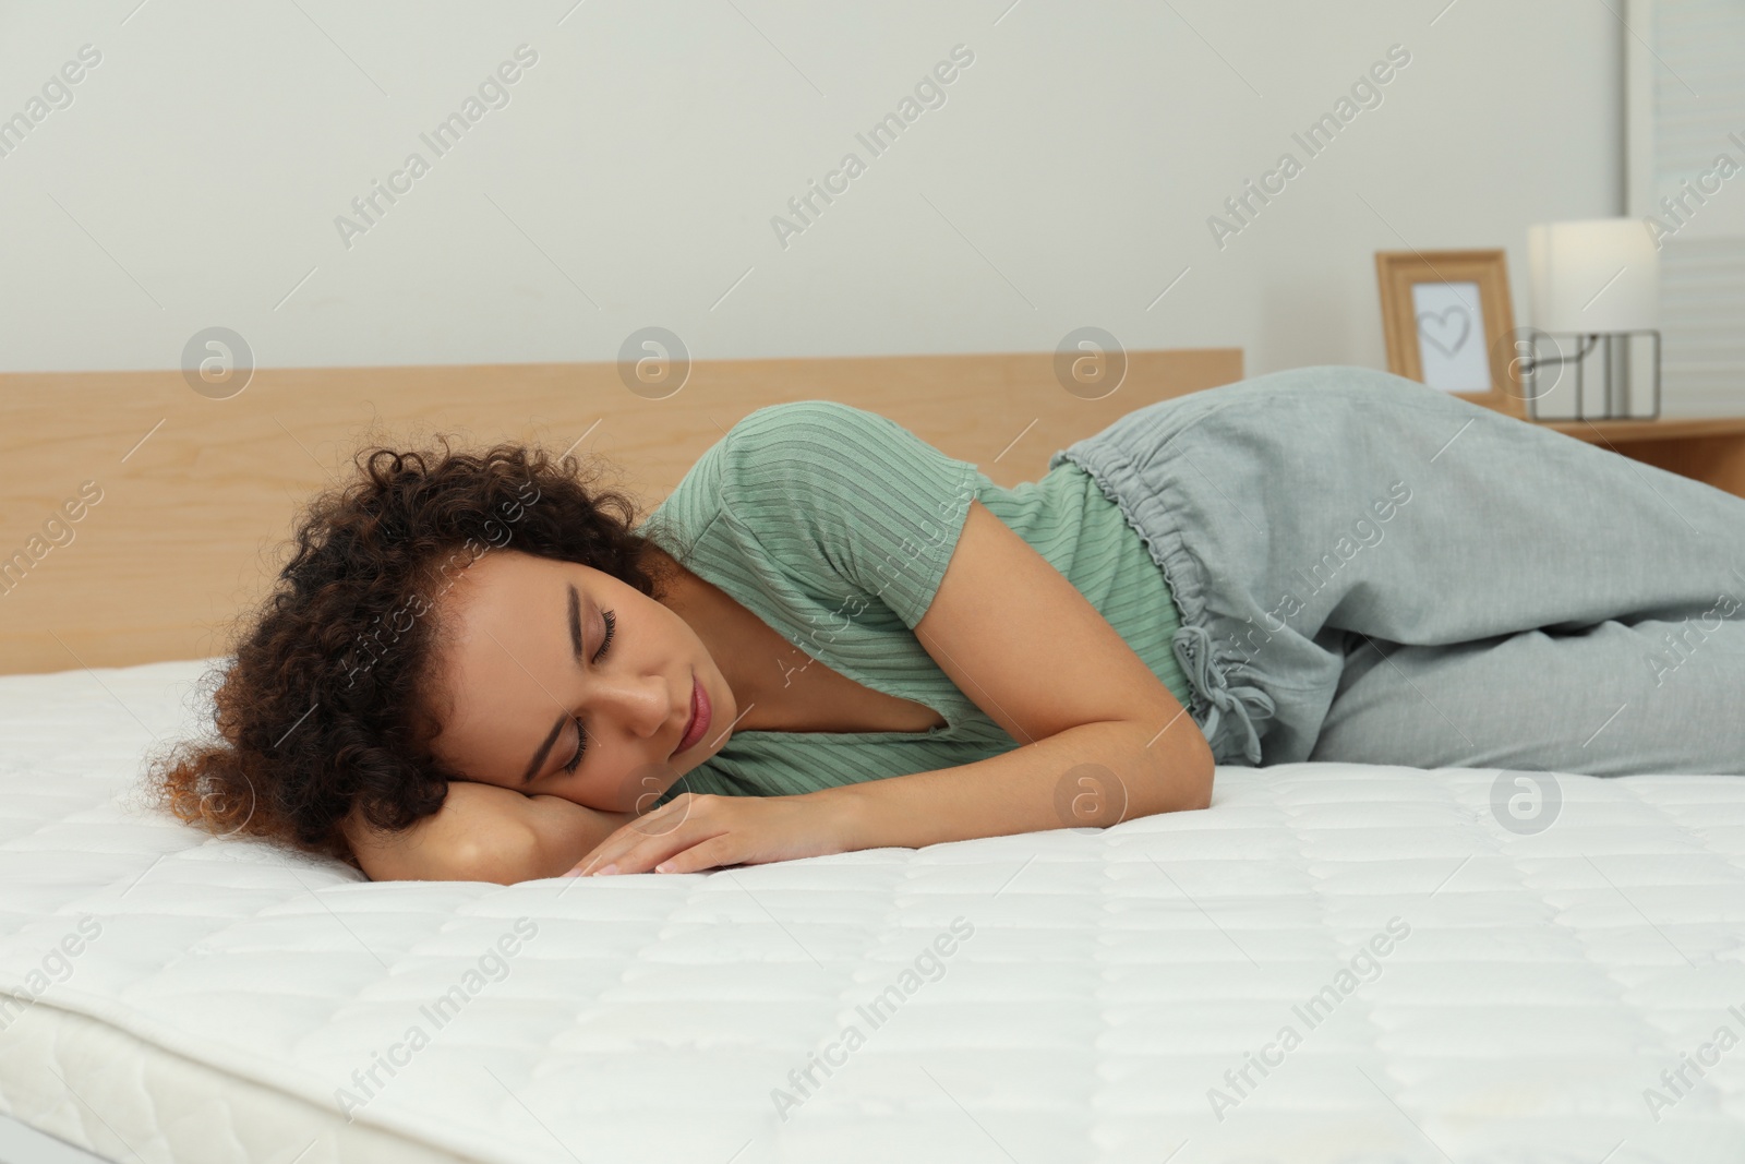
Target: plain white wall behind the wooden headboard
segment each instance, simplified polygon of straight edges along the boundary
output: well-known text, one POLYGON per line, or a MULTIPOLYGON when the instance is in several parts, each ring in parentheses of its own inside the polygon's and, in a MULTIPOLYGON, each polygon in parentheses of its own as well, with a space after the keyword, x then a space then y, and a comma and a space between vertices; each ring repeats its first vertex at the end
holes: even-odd
POLYGON ((1373 251, 1506 246, 1525 323, 1527 225, 1623 213, 1625 31, 1591 0, 136 3, 0 3, 0 117, 101 52, 0 157, 0 370, 169 368, 211 325, 263 366, 611 359, 644 325, 698 358, 1096 325, 1386 366, 1373 251), (435 157, 520 44, 510 105, 435 157), (958 44, 872 157, 855 133, 958 44), (1394 44, 1309 159, 1291 133, 1394 44), (412 150, 431 171, 347 248, 335 216, 412 150), (1220 250, 1208 216, 1286 150, 1220 250), (784 248, 771 216, 846 152, 866 173, 784 248))

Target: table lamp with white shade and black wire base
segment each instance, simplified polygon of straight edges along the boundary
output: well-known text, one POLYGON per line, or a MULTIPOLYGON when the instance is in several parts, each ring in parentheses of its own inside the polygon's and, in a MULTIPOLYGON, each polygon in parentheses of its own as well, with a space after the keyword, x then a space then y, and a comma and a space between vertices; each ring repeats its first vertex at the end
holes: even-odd
POLYGON ((1598 380, 1605 401, 1600 419, 1630 417, 1632 337, 1654 340, 1654 410, 1659 417, 1659 250, 1640 218, 1584 218, 1548 222, 1527 229, 1527 264, 1532 281, 1530 354, 1520 358, 1529 415, 1536 401, 1576 372, 1576 415, 1583 412, 1588 356, 1600 353, 1598 380), (1565 354, 1569 337, 1574 351, 1565 354), (1541 347, 1555 349, 1546 354, 1541 347), (1541 380, 1557 370, 1551 384, 1541 380))

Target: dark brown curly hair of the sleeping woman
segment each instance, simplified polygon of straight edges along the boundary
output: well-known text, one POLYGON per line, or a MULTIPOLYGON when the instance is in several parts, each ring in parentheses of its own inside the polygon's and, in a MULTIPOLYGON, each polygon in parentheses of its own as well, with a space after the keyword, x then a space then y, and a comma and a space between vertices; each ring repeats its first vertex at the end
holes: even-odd
POLYGON ((291 560, 234 661, 208 675, 216 738, 150 764, 150 791, 178 818, 356 866, 340 827, 354 806, 375 829, 407 829, 461 778, 429 742, 436 599, 466 565, 511 548, 660 597, 674 558, 633 531, 630 497, 593 487, 597 473, 525 445, 435 440, 363 448, 358 475, 298 515, 291 560))

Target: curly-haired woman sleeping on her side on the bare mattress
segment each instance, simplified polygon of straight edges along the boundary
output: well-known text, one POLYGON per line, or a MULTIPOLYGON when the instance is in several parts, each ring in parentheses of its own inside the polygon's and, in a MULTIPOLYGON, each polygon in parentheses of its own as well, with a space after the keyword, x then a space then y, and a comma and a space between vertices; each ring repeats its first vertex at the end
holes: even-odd
POLYGON ((1389 373, 1146 405, 1016 489, 829 401, 642 522, 520 445, 358 466, 152 778, 373 880, 1103 827, 1215 764, 1745 773, 1745 501, 1389 373))

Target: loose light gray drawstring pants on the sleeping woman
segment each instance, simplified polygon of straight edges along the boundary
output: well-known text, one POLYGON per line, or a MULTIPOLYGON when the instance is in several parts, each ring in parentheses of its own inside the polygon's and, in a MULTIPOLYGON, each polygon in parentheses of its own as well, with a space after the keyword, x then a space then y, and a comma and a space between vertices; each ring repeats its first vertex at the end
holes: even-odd
POLYGON ((1164 569, 1218 763, 1745 773, 1745 499, 1351 366, 1066 459, 1164 569))

